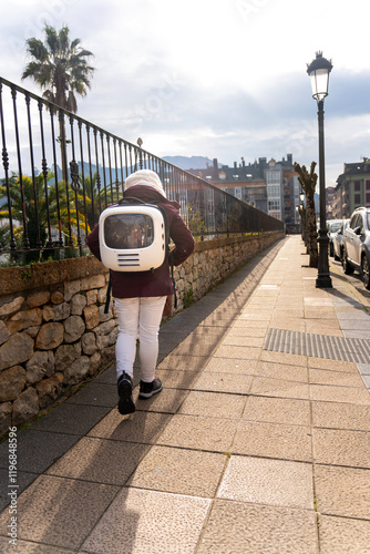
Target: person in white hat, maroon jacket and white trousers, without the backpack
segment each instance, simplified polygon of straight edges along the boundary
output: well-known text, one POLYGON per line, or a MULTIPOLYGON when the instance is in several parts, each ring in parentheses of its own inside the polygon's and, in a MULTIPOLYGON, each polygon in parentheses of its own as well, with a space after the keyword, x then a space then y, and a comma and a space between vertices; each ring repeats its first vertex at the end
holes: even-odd
MULTIPOLYGON (((158 175, 151 170, 141 170, 125 181, 123 197, 135 197, 162 206, 167 215, 169 237, 175 266, 184 263, 194 252, 194 238, 179 215, 179 204, 166 198, 158 175)), ((99 224, 86 238, 92 254, 101 260, 99 224)), ((129 414, 135 411, 132 396, 133 366, 138 338, 141 366, 140 399, 148 399, 161 392, 162 382, 155 377, 158 357, 158 332, 167 296, 174 294, 169 275, 169 260, 151 271, 112 270, 112 296, 119 319, 115 346, 119 411, 129 414)))

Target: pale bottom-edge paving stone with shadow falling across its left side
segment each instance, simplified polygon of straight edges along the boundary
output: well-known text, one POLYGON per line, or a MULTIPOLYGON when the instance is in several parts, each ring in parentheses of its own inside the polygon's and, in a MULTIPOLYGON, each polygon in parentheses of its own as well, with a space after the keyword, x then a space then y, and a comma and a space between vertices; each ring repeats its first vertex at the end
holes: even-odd
POLYGON ((193 554, 210 500, 123 489, 82 545, 83 552, 193 554))

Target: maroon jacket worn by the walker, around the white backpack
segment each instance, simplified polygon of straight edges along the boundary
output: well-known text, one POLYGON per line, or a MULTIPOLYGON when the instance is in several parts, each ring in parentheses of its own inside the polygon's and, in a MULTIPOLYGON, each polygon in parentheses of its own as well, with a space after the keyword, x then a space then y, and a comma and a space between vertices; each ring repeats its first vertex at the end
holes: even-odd
MULTIPOLYGON (((148 186, 131 186, 123 196, 133 196, 144 202, 157 202, 168 218, 169 236, 175 243, 172 250, 174 265, 178 266, 191 256, 194 250, 194 239, 181 217, 177 202, 168 201, 161 193, 148 186)), ((86 238, 90 250, 101 260, 99 247, 99 224, 86 238)), ((166 260, 154 271, 114 271, 112 270, 112 295, 115 298, 136 298, 152 296, 167 296, 173 294, 173 284, 169 275, 169 264, 166 260)))

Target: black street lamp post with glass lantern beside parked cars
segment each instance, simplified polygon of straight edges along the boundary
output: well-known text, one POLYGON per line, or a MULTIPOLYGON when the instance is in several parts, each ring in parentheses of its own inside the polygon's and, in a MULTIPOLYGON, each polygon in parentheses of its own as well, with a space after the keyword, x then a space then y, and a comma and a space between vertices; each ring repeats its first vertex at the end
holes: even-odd
POLYGON ((307 73, 311 80, 312 96, 317 101, 319 123, 319 184, 320 184, 320 229, 319 229, 319 263, 316 287, 332 287, 329 273, 329 237, 326 214, 325 187, 325 147, 323 147, 323 99, 328 95, 329 73, 332 63, 322 58, 322 52, 316 52, 316 59, 307 64, 307 73))

